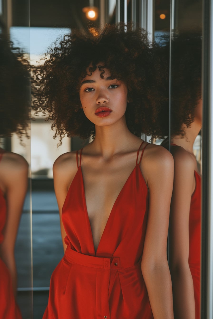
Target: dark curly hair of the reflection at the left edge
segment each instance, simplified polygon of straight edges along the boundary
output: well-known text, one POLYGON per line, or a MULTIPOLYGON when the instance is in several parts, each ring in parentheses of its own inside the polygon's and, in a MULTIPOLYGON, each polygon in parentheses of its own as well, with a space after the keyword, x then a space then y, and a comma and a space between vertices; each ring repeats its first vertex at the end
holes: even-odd
POLYGON ((27 135, 30 119, 30 66, 17 47, 0 36, 0 137, 27 135))

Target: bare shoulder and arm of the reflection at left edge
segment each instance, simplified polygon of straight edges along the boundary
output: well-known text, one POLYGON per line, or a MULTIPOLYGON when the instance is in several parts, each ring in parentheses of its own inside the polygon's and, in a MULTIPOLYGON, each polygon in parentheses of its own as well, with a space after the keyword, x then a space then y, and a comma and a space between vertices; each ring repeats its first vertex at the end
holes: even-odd
POLYGON ((19 221, 28 186, 28 163, 20 155, 7 152, 2 161, 1 182, 6 199, 6 223, 4 240, 0 245, 0 256, 10 271, 14 295, 17 288, 16 262, 14 256, 15 242, 19 221))

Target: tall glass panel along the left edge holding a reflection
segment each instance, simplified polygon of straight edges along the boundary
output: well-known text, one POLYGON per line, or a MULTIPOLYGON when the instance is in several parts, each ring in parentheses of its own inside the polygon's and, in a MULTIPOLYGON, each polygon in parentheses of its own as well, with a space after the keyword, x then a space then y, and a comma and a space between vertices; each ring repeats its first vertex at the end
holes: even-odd
POLYGON ((28 319, 33 311, 29 1, 0 1, 0 51, 1 311, 16 317, 20 308, 28 319))

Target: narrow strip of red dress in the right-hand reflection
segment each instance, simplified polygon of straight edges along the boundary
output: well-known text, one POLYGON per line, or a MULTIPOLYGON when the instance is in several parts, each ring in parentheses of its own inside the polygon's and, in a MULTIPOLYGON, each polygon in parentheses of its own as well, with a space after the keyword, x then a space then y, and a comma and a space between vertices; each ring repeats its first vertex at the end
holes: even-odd
POLYGON ((189 213, 189 268, 194 284, 195 318, 200 319, 201 272, 201 177, 194 171, 195 190, 189 213))

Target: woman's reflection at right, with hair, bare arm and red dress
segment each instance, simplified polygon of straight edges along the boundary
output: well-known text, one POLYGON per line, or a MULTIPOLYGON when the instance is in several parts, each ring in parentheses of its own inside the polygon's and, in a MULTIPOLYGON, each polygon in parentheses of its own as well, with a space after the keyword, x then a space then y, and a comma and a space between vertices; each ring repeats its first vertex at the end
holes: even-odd
MULTIPOLYGON (((199 319, 201 176, 193 145, 202 126, 201 37, 174 33, 171 48, 174 186, 170 216, 170 269, 174 316, 177 319, 199 319)), ((168 140, 163 145, 167 143, 168 140)))

